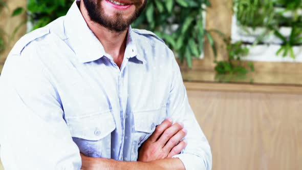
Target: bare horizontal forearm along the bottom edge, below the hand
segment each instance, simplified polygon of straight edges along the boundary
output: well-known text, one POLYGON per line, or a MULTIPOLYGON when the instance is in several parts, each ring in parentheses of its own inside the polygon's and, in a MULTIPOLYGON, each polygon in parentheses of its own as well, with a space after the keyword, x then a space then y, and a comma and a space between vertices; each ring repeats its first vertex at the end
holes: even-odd
POLYGON ((183 163, 178 158, 155 160, 151 162, 126 162, 113 159, 92 158, 82 156, 83 170, 98 169, 185 169, 183 163))

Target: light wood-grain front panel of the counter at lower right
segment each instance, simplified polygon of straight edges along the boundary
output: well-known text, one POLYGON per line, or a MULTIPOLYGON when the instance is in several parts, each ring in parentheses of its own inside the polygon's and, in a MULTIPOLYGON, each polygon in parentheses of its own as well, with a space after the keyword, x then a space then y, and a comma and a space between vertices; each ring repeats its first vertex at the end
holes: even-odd
POLYGON ((302 95, 188 91, 213 169, 302 169, 302 95))

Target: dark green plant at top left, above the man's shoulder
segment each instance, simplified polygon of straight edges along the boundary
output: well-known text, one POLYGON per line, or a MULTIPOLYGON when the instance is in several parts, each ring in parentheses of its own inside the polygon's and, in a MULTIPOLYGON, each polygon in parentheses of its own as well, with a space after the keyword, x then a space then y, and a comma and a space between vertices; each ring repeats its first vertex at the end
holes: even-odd
POLYGON ((66 15, 74 0, 28 0, 32 30, 44 27, 56 18, 66 15))

